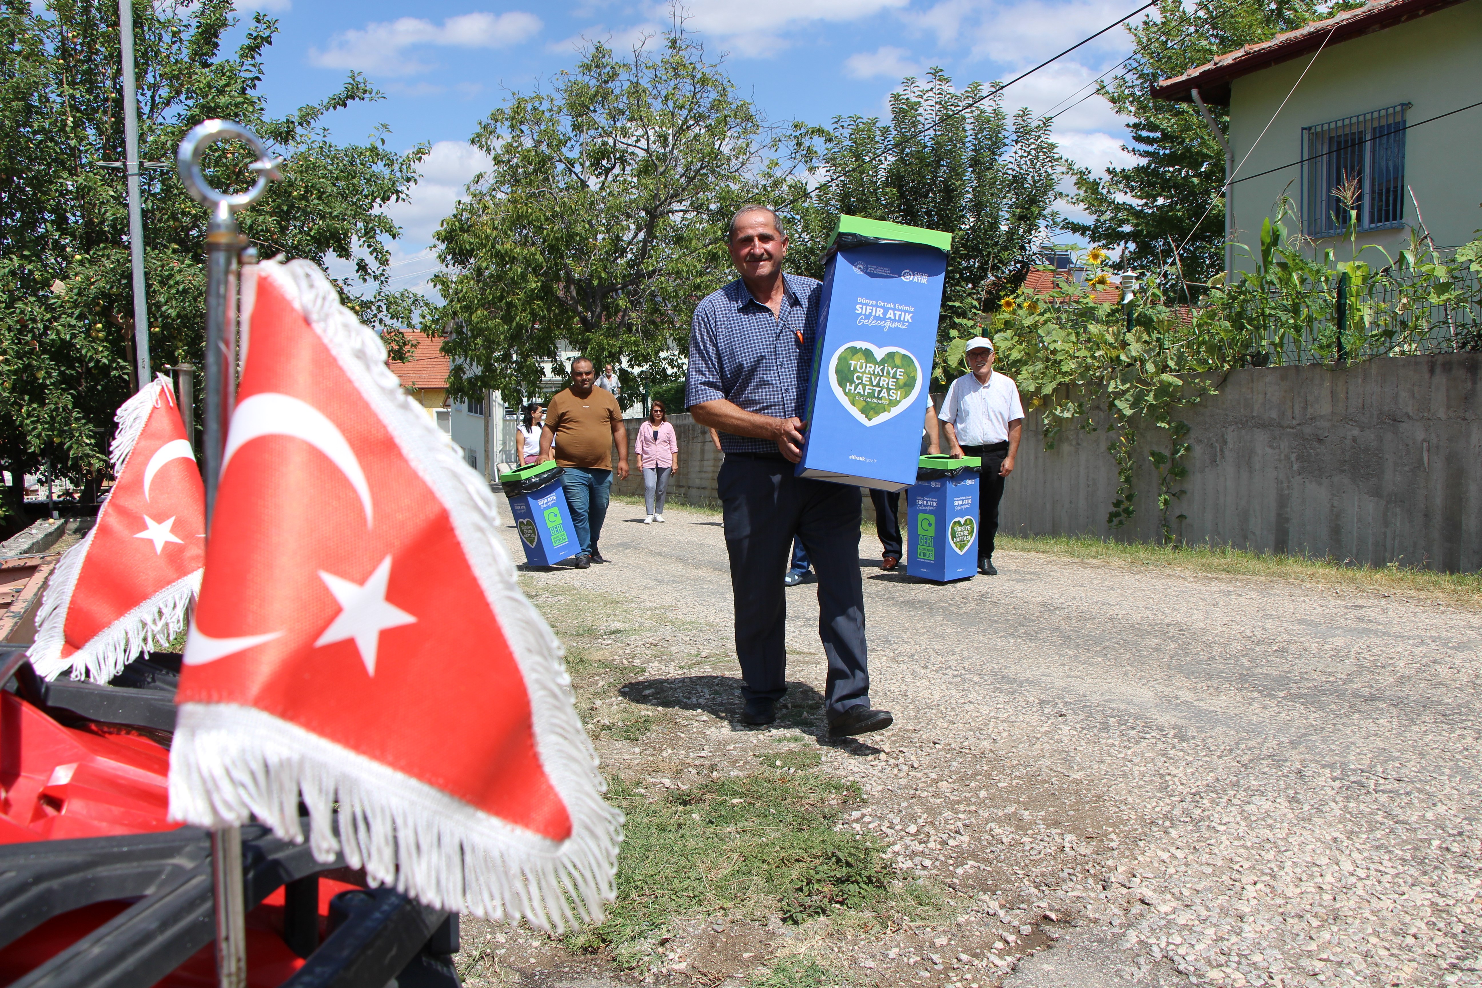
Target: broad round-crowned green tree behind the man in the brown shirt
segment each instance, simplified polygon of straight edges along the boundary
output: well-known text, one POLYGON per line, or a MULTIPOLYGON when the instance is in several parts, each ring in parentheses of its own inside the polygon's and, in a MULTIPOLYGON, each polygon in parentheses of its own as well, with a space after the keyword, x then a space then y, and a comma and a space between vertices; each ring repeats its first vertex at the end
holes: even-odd
POLYGON ((562 342, 618 364, 625 394, 674 378, 731 210, 796 194, 811 136, 769 126, 682 27, 628 56, 594 44, 551 92, 514 93, 437 233, 449 390, 534 394, 562 342))

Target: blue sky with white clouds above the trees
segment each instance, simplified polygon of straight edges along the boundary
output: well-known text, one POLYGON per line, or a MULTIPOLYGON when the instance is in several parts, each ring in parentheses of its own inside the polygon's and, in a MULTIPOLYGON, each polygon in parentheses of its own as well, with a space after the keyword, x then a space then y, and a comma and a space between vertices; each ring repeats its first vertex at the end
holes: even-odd
MULTIPOLYGON (((941 65, 957 84, 1011 79, 1140 6, 1137 0, 691 0, 688 25, 725 55, 740 92, 772 120, 827 123, 877 114, 903 76, 941 65)), ((409 203, 388 209, 403 227, 394 287, 419 287, 436 261, 431 234, 479 170, 467 144, 479 121, 578 61, 585 39, 628 47, 668 22, 664 0, 243 0, 280 34, 267 55, 273 113, 323 98, 345 73, 365 73, 381 102, 329 119, 338 139, 376 123, 393 147, 433 145, 409 203)), ((1085 96, 1088 83, 1131 50, 1114 30, 1005 92, 1006 105, 1048 113, 1085 96), (1077 92, 1079 90, 1079 92, 1077 92)), ((1057 116, 1064 154, 1100 169, 1125 163, 1123 130, 1092 96, 1057 116)))

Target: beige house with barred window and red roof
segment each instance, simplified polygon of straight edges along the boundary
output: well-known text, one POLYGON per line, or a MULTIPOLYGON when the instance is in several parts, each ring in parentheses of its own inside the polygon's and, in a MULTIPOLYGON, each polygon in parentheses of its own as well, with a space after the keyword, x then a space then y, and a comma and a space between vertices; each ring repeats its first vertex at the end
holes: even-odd
MULTIPOLYGON (((1393 256, 1423 222, 1455 247, 1482 228, 1482 105, 1472 105, 1482 102, 1482 0, 1371 0, 1153 95, 1230 108, 1229 234, 1249 252, 1283 197, 1306 236, 1337 244, 1347 209, 1334 190, 1346 182, 1359 193, 1360 246, 1393 256)), ((1242 249, 1232 262, 1252 267, 1242 249)))

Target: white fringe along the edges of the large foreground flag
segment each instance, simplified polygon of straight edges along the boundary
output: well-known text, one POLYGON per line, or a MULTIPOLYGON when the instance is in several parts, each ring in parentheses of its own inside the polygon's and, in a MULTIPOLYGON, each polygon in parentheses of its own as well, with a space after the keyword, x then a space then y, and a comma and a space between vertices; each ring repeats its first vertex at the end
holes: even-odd
POLYGON ((562 646, 516 584, 488 481, 402 391, 379 338, 339 304, 317 267, 258 267, 258 277, 271 278, 305 316, 446 508, 525 678, 535 750, 572 834, 565 841, 539 837, 296 724, 233 704, 179 707, 170 819, 219 828, 256 818, 301 843, 302 797, 316 859, 330 861, 339 850, 373 884, 434 908, 525 918, 556 932, 600 921, 602 904, 615 895, 622 813, 602 800, 606 784, 576 717, 562 646))

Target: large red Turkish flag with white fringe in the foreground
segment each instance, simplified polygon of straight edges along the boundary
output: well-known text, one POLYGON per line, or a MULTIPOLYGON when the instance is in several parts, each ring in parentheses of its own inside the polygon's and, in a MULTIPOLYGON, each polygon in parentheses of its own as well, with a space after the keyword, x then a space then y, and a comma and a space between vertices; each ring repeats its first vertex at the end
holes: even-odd
POLYGON ((319 268, 256 265, 243 299, 172 818, 302 840, 302 794, 316 856, 375 883, 542 927, 600 915, 621 815, 486 481, 319 268))

